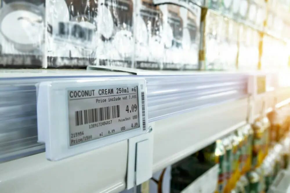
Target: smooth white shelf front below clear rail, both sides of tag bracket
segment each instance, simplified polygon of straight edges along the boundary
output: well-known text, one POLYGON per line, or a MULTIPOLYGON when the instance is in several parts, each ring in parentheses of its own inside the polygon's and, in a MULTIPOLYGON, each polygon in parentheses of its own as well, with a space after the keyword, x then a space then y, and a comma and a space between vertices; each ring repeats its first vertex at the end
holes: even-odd
MULTIPOLYGON (((246 109, 243 98, 152 123, 153 172, 243 125, 246 109)), ((127 147, 121 141, 57 162, 40 153, 1 163, 0 192, 120 192, 126 187, 127 147)))

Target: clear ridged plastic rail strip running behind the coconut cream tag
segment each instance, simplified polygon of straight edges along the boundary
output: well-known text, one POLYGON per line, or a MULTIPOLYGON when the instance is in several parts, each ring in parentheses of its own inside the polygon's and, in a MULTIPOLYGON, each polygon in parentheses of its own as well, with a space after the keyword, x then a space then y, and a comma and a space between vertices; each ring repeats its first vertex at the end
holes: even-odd
MULTIPOLYGON (((37 143, 36 83, 72 78, 133 77, 126 72, 85 70, 28 70, 24 77, 12 70, 1 75, 0 162, 44 151, 44 146, 37 143)), ((194 72, 138 77, 147 80, 149 122, 247 96, 248 79, 244 73, 194 72)))

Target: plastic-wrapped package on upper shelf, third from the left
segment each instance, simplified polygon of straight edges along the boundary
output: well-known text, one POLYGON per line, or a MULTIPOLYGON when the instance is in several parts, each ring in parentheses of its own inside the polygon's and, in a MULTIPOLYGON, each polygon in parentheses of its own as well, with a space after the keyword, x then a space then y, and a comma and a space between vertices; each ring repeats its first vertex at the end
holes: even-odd
POLYGON ((98 9, 98 29, 100 30, 96 54, 99 60, 95 64, 132 67, 134 55, 133 1, 102 1, 99 2, 98 9))

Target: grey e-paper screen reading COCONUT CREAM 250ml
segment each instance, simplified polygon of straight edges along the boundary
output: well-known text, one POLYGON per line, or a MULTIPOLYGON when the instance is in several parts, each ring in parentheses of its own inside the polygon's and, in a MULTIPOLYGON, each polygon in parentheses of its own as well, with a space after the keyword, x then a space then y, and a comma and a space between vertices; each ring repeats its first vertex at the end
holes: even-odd
POLYGON ((70 146, 139 127, 146 130, 145 96, 138 89, 137 85, 69 89, 70 146))

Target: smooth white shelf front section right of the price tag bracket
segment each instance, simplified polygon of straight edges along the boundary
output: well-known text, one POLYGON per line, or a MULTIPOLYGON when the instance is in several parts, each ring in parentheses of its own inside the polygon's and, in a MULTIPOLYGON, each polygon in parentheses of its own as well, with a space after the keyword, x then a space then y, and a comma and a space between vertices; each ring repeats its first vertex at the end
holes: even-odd
POLYGON ((155 122, 153 171, 206 147, 246 124, 247 98, 155 122))

